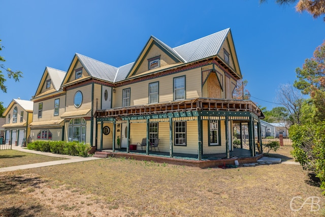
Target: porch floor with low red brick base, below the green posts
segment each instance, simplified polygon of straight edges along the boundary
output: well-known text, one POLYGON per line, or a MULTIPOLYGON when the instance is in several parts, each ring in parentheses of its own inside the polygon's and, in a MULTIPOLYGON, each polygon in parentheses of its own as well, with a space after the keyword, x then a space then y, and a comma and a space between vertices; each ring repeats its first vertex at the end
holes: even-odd
POLYGON ((234 148, 233 151, 230 151, 230 158, 227 158, 226 153, 215 153, 203 154, 202 160, 198 160, 198 154, 174 153, 173 158, 171 158, 169 152, 149 151, 149 155, 147 155, 145 150, 129 150, 129 152, 127 152, 126 148, 115 149, 115 151, 112 149, 105 149, 101 152, 95 152, 95 155, 96 154, 98 154, 98 157, 127 158, 200 168, 234 165, 235 160, 237 160, 239 164, 256 163, 258 159, 263 157, 263 154, 257 153, 256 156, 252 157, 251 151, 244 148, 234 148))

